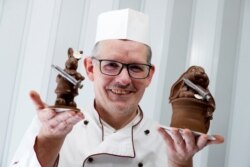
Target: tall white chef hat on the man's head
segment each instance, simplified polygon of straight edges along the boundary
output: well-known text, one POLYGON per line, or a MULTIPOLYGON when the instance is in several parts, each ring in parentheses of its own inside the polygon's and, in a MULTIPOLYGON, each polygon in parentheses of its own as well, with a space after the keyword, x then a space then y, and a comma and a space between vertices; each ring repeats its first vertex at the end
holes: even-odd
POLYGON ((150 46, 148 16, 132 9, 100 14, 95 43, 107 39, 128 39, 150 46))

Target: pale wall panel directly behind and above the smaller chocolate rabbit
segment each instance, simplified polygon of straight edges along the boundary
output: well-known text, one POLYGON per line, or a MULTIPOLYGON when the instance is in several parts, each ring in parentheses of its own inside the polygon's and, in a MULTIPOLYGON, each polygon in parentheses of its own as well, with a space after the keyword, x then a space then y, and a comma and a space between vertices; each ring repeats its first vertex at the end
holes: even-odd
MULTIPOLYGON (((80 34, 82 29, 82 17, 84 16, 85 3, 82 0, 62 1, 58 15, 57 32, 52 63, 64 68, 69 47, 79 50, 80 34)), ((81 65, 81 63, 79 63, 81 65)), ((51 70, 50 83, 47 94, 47 102, 54 103, 57 73, 51 70)))

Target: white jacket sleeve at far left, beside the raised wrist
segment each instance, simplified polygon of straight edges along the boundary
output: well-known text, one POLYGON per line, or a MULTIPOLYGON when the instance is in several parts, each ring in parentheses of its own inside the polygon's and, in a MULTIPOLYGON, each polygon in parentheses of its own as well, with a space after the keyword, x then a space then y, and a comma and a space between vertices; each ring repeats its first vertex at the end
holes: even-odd
POLYGON ((41 124, 35 117, 27 129, 9 167, 41 167, 34 151, 36 136, 41 124))

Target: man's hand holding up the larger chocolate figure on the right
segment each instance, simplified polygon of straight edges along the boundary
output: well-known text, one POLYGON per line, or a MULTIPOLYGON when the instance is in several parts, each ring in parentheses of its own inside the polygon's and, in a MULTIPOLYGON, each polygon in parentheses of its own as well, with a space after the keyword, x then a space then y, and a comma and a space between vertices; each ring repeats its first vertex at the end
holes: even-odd
POLYGON ((213 135, 215 140, 209 140, 207 134, 197 137, 189 129, 184 129, 182 133, 178 128, 171 128, 169 133, 164 128, 158 130, 167 144, 168 162, 171 167, 191 167, 192 158, 198 151, 207 145, 224 142, 220 135, 213 135))

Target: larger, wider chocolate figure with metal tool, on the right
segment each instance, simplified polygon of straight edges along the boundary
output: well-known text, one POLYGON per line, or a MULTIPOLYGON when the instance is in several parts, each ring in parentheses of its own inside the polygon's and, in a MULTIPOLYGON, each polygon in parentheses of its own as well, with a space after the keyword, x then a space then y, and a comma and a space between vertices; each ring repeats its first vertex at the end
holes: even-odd
POLYGON ((172 127, 207 133, 213 118, 215 101, 208 90, 209 78, 199 66, 191 66, 174 83, 170 93, 172 127))

